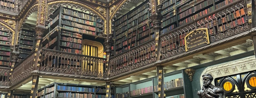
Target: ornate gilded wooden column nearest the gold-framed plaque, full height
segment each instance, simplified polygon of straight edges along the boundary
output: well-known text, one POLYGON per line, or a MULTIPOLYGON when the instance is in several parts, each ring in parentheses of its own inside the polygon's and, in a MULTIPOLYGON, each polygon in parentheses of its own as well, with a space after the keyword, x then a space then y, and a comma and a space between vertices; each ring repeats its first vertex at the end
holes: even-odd
MULTIPOLYGON (((163 19, 162 11, 162 0, 149 0, 151 16, 149 17, 153 22, 153 30, 155 32, 155 51, 156 51, 156 61, 161 59, 161 40, 160 29, 161 29, 161 20, 163 19)), ((165 98, 164 94, 164 76, 163 76, 163 66, 157 65, 157 77, 158 77, 158 97, 165 98)))

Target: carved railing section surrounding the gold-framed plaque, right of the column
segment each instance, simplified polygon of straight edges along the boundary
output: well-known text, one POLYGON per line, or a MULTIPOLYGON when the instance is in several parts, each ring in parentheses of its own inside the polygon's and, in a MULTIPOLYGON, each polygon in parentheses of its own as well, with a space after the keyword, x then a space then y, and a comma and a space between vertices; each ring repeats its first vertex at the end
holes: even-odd
POLYGON ((171 30, 160 37, 162 43, 161 59, 185 52, 184 37, 190 31, 207 28, 210 43, 222 40, 249 30, 247 11, 244 0, 237 0, 228 7, 220 8, 186 26, 171 30))

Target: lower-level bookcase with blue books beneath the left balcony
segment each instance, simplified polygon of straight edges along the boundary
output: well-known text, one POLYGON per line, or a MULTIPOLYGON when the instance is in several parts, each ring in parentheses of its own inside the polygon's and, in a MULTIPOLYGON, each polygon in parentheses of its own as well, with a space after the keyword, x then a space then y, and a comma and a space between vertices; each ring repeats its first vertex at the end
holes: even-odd
POLYGON ((67 83, 53 83, 39 89, 37 93, 37 98, 105 98, 105 96, 104 86, 67 83))

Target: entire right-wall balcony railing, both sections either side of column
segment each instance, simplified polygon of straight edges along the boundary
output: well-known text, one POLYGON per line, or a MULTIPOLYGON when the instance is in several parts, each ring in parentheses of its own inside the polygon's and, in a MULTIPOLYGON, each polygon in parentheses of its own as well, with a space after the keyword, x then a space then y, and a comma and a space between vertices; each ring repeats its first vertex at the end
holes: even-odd
MULTIPOLYGON (((184 37, 191 31, 206 28, 209 42, 223 40, 249 30, 247 9, 244 0, 237 0, 228 6, 219 8, 169 33, 161 35, 161 60, 185 53, 184 37)), ((142 67, 156 61, 155 41, 145 42, 127 52, 110 58, 110 76, 142 67), (153 54, 151 54, 153 53, 153 54)))

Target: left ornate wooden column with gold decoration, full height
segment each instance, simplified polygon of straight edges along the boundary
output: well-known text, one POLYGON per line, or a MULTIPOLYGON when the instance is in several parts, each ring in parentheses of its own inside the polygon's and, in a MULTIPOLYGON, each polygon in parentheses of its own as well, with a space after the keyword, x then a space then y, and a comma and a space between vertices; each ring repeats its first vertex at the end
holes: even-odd
MULTIPOLYGON (((41 48, 42 48, 42 39, 43 33, 45 31, 45 19, 47 18, 47 1, 48 0, 38 0, 38 12, 37 12, 37 23, 36 23, 36 46, 35 46, 35 59, 34 59, 34 69, 39 70, 41 59, 41 48)), ((30 98, 37 98, 37 88, 38 88, 39 75, 32 76, 32 87, 30 98)))

